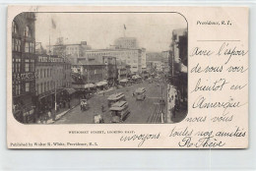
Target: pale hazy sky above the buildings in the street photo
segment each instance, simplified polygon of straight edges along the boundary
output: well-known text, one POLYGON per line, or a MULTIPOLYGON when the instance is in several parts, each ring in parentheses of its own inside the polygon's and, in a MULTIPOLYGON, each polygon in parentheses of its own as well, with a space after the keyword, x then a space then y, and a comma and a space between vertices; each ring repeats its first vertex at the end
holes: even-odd
POLYGON ((35 41, 45 48, 49 39, 52 45, 64 37, 65 44, 87 41, 93 49, 103 49, 125 34, 136 37, 139 47, 160 52, 169 49, 173 29, 186 27, 176 13, 37 13, 35 41))

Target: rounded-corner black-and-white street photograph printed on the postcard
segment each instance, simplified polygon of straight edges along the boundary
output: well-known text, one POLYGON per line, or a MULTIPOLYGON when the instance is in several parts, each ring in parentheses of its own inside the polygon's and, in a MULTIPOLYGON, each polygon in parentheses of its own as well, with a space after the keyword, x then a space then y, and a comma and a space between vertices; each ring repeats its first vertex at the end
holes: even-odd
POLYGON ((188 28, 178 13, 32 13, 12 22, 22 124, 175 124, 187 116, 188 28))

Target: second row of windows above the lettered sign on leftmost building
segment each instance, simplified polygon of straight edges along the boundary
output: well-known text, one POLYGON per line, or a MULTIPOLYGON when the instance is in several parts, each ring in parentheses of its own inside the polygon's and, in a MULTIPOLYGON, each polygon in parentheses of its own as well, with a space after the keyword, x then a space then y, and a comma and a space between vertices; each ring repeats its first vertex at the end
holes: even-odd
MULTIPOLYGON (((17 52, 22 52, 22 40, 18 38, 13 38, 12 41, 12 50, 17 52)), ((26 53, 34 53, 34 43, 33 42, 25 42, 25 50, 26 53)))

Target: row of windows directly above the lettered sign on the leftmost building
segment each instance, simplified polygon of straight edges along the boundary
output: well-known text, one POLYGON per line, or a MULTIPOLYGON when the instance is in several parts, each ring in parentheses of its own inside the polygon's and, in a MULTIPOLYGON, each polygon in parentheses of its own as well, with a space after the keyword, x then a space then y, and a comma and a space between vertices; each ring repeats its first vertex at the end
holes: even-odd
MULTIPOLYGON (((21 58, 13 58, 13 73, 22 72, 21 58)), ((25 59, 25 72, 34 72, 34 59, 25 59)))

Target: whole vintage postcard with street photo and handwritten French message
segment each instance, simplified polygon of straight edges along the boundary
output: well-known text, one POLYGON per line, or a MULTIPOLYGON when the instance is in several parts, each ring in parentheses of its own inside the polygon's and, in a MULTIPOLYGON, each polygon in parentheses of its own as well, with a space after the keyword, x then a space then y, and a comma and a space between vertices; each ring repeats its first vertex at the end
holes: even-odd
POLYGON ((248 15, 9 6, 8 148, 247 148, 248 15))

